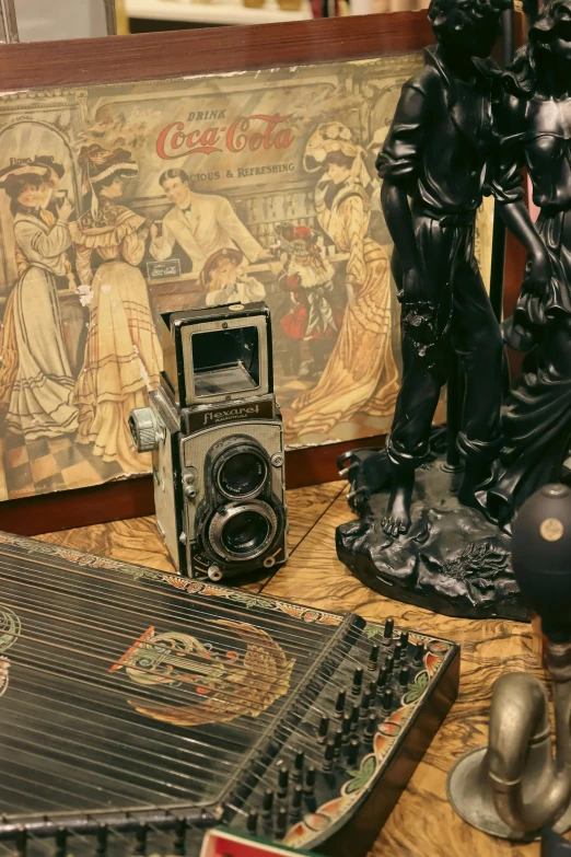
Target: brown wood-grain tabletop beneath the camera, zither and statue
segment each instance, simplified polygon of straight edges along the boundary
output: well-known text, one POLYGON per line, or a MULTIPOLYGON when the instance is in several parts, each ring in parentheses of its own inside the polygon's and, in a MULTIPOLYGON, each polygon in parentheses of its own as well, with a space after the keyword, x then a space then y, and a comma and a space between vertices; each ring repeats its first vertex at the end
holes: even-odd
MULTIPOLYGON (((370 857, 538 857, 536 844, 516 846, 486 836, 457 818, 446 800, 446 775, 466 750, 487 740, 491 686, 505 671, 537 669, 529 625, 455 619, 389 601, 366 589, 337 559, 335 528, 351 518, 346 483, 288 493, 290 560, 271 576, 250 580, 255 592, 370 621, 394 616, 409 629, 462 646, 458 699, 413 774, 370 857)), ((172 570, 152 518, 97 524, 38 536, 81 551, 172 570)))

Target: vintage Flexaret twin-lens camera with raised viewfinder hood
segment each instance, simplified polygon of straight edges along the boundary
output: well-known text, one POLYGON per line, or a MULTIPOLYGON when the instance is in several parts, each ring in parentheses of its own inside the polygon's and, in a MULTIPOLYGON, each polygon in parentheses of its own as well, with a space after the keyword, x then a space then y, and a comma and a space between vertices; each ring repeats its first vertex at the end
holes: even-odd
POLYGON ((211 580, 284 563, 281 414, 264 303, 161 315, 164 372, 131 412, 153 452, 156 524, 177 568, 211 580))

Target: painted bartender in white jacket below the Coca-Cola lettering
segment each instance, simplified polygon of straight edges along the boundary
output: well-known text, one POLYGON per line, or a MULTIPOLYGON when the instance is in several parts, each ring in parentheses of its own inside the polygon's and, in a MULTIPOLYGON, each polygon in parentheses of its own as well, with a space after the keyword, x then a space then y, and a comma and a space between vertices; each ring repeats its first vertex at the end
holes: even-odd
POLYGON ((160 177, 161 186, 173 208, 162 222, 151 227, 151 255, 162 262, 171 257, 178 244, 200 271, 206 260, 223 247, 238 247, 254 262, 269 258, 252 233, 242 223, 229 200, 217 194, 196 194, 184 170, 167 170, 160 177))

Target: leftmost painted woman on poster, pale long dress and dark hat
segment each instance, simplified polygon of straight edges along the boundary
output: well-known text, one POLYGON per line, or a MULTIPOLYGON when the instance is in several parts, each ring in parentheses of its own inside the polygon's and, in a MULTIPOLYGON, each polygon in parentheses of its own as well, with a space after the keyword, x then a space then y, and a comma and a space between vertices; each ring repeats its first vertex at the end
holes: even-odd
POLYGON ((59 438, 78 428, 57 289, 58 278, 72 277, 66 255, 72 207, 66 199, 57 217, 45 208, 62 175, 59 164, 42 158, 0 174, 11 199, 20 275, 3 320, 0 394, 7 428, 26 440, 59 438))

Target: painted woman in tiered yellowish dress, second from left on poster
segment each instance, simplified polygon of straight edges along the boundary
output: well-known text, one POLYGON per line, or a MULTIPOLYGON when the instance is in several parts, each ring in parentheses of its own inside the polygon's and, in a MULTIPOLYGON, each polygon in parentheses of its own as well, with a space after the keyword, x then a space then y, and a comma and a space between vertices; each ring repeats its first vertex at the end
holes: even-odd
POLYGON ((150 470, 128 429, 131 408, 143 407, 159 383, 161 349, 138 265, 144 255, 144 218, 120 205, 125 181, 138 167, 130 152, 84 147, 80 155, 91 210, 70 230, 78 273, 90 285, 90 327, 75 401, 80 443, 125 473, 150 470))

